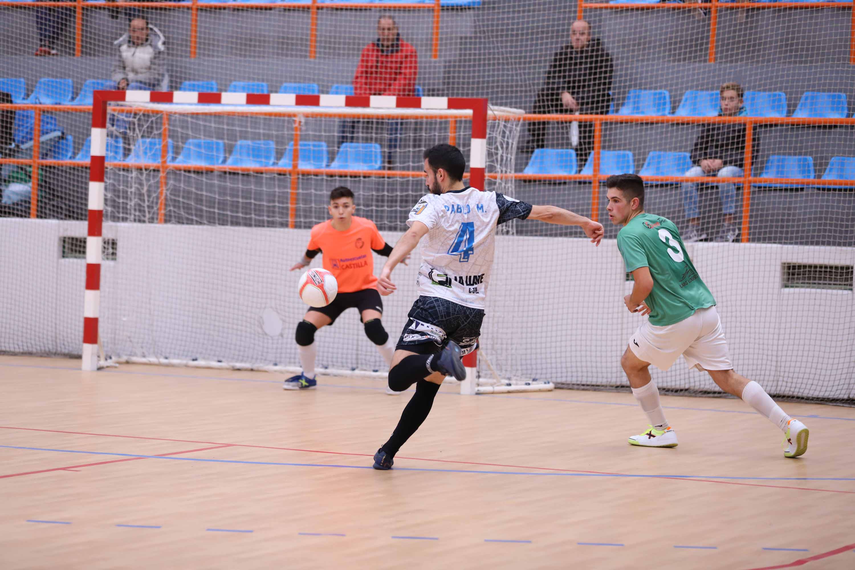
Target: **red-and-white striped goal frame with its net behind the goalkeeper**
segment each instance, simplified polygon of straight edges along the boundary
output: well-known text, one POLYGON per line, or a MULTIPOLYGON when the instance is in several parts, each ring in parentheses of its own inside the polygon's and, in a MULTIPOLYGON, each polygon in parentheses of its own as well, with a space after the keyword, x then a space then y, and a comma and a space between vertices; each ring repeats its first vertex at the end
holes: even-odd
MULTIPOLYGON (((330 191, 351 188, 357 215, 394 244, 426 191, 422 152, 433 144, 457 144, 469 156, 471 184, 510 194, 521 117, 483 99, 127 91, 92 131, 93 161, 102 143, 107 154, 112 146, 129 155, 105 161, 101 241, 119 253, 101 264, 97 290, 86 291, 89 314, 100 305, 102 346, 87 329, 84 366, 103 358, 298 370, 294 327, 307 308, 297 295, 301 272, 288 267, 303 256, 310 228, 328 219, 330 191), (221 103, 203 103, 214 99, 221 103)), ((90 220, 97 215, 90 210, 90 220)), ((97 237, 90 240, 98 250, 97 237)), ((375 269, 382 263, 377 257, 375 269)), ((416 251, 395 272, 399 291, 384 298, 391 335, 417 296, 419 263, 416 251)), ((356 311, 317 339, 327 373, 385 372, 356 311)), ((497 382, 488 366, 473 379, 498 387, 481 391, 552 387, 497 382)), ((477 382, 466 389, 475 393, 477 382)))

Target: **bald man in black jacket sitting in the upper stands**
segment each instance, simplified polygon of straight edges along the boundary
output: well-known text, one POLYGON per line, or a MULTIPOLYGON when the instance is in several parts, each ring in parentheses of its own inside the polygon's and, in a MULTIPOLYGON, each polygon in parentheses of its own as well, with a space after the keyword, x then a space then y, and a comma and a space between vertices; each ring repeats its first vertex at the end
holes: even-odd
MULTIPOLYGON (((581 113, 606 115, 611 104, 611 78, 614 66, 609 52, 599 38, 591 38, 591 26, 577 20, 570 26, 570 43, 552 58, 549 71, 534 100, 534 113, 581 113)), ((528 144, 523 149, 542 149, 546 123, 528 123, 528 144)), ((580 167, 593 150, 593 123, 579 123, 579 145, 576 156, 580 167)))

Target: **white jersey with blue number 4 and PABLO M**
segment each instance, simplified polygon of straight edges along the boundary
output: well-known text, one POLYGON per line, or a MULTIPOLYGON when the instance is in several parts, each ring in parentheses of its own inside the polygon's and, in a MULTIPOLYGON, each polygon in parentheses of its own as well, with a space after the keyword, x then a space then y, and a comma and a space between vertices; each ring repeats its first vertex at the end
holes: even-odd
POLYGON ((422 240, 419 295, 484 309, 496 226, 525 220, 531 211, 527 203, 471 186, 422 197, 407 220, 408 226, 420 221, 429 230, 422 240))

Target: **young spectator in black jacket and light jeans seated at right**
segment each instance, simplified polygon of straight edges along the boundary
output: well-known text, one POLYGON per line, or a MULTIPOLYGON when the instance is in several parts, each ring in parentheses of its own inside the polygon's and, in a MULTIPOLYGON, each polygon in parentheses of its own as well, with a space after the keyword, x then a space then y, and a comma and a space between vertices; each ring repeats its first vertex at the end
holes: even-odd
MULTIPOLYGON (((746 108, 742 104, 742 86, 738 83, 725 83, 718 90, 721 109, 720 117, 745 116, 746 108)), ((755 139, 753 148, 757 149, 755 139)), ((686 176, 742 176, 745 167, 746 126, 742 123, 710 123, 701 127, 700 134, 692 148, 692 162, 686 176)), ((756 153, 752 153, 756 156, 756 153)), ((752 159, 753 161, 753 159, 752 159)), ((684 242, 705 239, 706 233, 700 227, 698 211, 697 182, 684 182, 682 185, 683 211, 689 220, 684 242)), ((732 242, 739 234, 734 222, 736 213, 736 185, 723 183, 718 185, 718 196, 722 201, 724 220, 722 230, 716 236, 716 242, 732 242)))

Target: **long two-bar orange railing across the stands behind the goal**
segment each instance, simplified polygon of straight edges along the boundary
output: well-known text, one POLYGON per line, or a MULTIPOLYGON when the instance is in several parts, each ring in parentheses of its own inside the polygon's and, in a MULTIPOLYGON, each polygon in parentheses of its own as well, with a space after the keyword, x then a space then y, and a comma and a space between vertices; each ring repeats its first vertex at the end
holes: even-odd
MULTIPOLYGON (((88 162, 81 161, 56 161, 46 160, 40 157, 39 150, 39 133, 41 132, 41 118, 44 112, 69 112, 69 113, 91 113, 91 106, 68 106, 68 105, 27 105, 27 104, 0 104, 0 109, 22 110, 30 109, 34 111, 34 126, 33 126, 33 148, 32 157, 30 158, 4 158, 0 159, 2 164, 17 164, 21 166, 32 167, 32 196, 30 201, 30 217, 37 217, 38 210, 38 169, 39 167, 88 167, 88 162)), ((270 110, 262 113, 254 111, 220 111, 215 112, 211 109, 200 109, 199 114, 202 115, 227 115, 227 116, 268 116, 268 117, 286 117, 293 120, 293 156, 291 167, 233 167, 233 166, 207 166, 198 164, 172 164, 168 162, 168 139, 169 139, 169 123, 168 114, 159 109, 145 108, 116 108, 121 109, 126 113, 139 113, 144 115, 163 115, 162 134, 161 134, 161 157, 159 162, 154 163, 133 163, 133 162, 109 162, 108 166, 112 168, 127 168, 127 169, 147 169, 159 173, 159 197, 158 197, 158 215, 157 220, 163 223, 166 213, 166 200, 168 188, 168 173, 171 171, 183 172, 235 172, 235 173, 270 173, 270 174, 289 174, 291 176, 291 184, 289 188, 289 214, 288 226, 294 227, 296 222, 297 197, 299 192, 299 179, 301 176, 349 176, 349 177, 364 177, 364 178, 422 178, 424 175, 420 170, 333 170, 331 168, 300 168, 299 165, 299 140, 301 138, 301 120, 299 117, 305 118, 333 118, 333 119, 376 119, 377 115, 372 114, 337 114, 324 113, 319 111, 296 111, 296 110, 270 110)), ((430 115, 429 117, 420 117, 418 115, 405 114, 389 114, 383 115, 384 118, 394 120, 447 120, 449 124, 448 139, 451 144, 457 142, 457 121, 461 120, 460 115, 430 115)), ((593 122, 593 173, 591 174, 496 174, 487 173, 489 179, 515 179, 515 180, 542 180, 542 181, 591 181, 591 218, 598 220, 600 208, 600 182, 608 178, 607 174, 600 173, 600 151, 602 150, 603 124, 604 123, 628 123, 628 124, 680 124, 680 125, 698 125, 702 123, 743 123, 746 125, 746 148, 745 148, 745 167, 744 174, 739 177, 716 177, 716 184, 719 183, 734 183, 742 185, 742 232, 741 240, 748 242, 750 238, 751 226, 751 192, 752 184, 775 184, 775 185, 805 185, 814 187, 823 186, 851 186, 855 189, 855 182, 852 180, 840 179, 791 179, 791 178, 760 178, 752 176, 752 154, 753 154, 753 132, 755 126, 760 125, 789 125, 789 126, 855 126, 855 118, 849 119, 817 119, 817 118, 799 118, 799 117, 675 117, 675 116, 637 116, 637 115, 522 115, 518 117, 511 116, 488 116, 488 120, 522 120, 522 121, 552 121, 552 122, 569 122, 569 121, 584 121, 593 122)), ((468 174, 467 174, 468 176, 468 174)), ((709 183, 709 177, 687 177, 687 176, 643 176, 646 182, 702 182, 709 183)))

